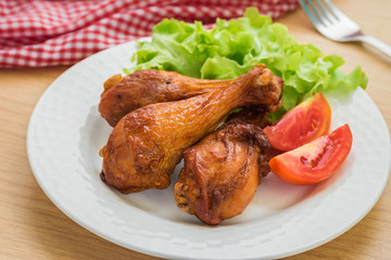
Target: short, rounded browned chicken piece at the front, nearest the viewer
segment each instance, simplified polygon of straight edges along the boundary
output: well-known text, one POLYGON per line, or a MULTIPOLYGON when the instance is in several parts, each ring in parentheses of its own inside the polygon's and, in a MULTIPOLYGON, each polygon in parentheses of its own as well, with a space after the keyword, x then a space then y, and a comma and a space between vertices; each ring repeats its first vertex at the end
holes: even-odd
MULTIPOLYGON (((229 120, 184 153, 185 166, 174 194, 180 210, 206 224, 240 214, 252 200, 263 176, 269 172, 269 143, 253 123, 255 113, 229 120)), ((263 123, 263 117, 260 123, 263 123)))

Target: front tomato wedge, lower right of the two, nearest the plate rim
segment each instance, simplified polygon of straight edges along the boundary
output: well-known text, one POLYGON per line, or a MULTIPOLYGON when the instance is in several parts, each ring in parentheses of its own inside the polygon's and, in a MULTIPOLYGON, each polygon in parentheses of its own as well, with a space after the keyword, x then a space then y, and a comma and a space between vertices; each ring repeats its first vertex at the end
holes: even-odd
POLYGON ((299 148, 273 157, 270 170, 291 184, 313 184, 332 176, 348 157, 352 132, 344 125, 299 148))

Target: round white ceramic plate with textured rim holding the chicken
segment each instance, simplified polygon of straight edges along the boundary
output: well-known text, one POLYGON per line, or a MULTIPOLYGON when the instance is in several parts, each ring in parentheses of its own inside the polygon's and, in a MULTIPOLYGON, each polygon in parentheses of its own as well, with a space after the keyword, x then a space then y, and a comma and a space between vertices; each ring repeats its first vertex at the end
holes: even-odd
POLYGON ((135 50, 129 42, 71 67, 43 93, 30 118, 27 151, 37 181, 87 230, 169 259, 275 259, 337 237, 378 200, 390 171, 390 135, 361 89, 345 98, 328 96, 331 129, 348 122, 354 138, 351 154, 332 178, 293 186, 269 174, 245 211, 218 226, 179 211, 173 185, 130 195, 106 186, 99 178, 98 152, 111 128, 98 113, 100 93, 106 78, 130 66, 135 50))

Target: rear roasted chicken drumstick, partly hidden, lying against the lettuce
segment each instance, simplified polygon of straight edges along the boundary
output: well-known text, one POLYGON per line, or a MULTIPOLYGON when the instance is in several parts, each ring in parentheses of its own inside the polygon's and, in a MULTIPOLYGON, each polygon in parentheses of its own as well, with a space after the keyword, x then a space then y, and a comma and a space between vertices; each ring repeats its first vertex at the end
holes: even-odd
MULTIPOLYGON (((265 70, 261 76, 269 80, 270 89, 281 88, 281 79, 265 70)), ((114 127, 128 113, 154 103, 171 102, 204 94, 215 88, 230 84, 232 80, 195 79, 173 72, 144 69, 126 77, 115 75, 103 87, 99 103, 101 116, 114 127)), ((280 101, 280 100, 279 100, 280 101)), ((265 104, 268 112, 279 108, 280 102, 265 104)))

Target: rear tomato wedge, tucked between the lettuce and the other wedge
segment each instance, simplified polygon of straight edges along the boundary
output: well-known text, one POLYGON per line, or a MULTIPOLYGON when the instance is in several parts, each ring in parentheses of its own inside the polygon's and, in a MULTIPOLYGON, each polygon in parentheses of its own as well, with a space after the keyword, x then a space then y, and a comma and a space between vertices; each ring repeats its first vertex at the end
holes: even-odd
POLYGON ((319 92, 289 110, 277 123, 266 127, 264 130, 272 147, 279 151, 291 151, 328 133, 330 122, 330 106, 319 92))

